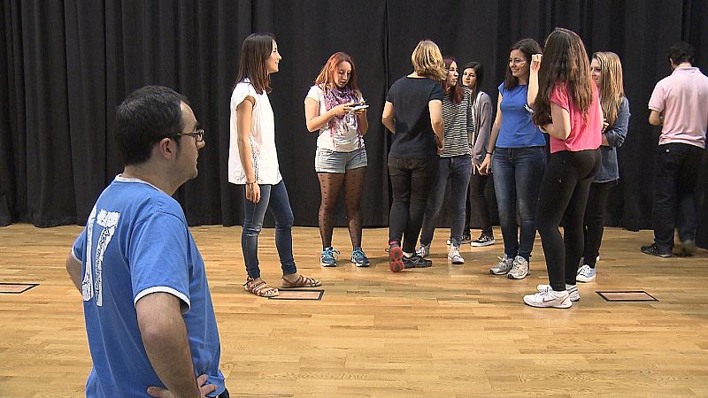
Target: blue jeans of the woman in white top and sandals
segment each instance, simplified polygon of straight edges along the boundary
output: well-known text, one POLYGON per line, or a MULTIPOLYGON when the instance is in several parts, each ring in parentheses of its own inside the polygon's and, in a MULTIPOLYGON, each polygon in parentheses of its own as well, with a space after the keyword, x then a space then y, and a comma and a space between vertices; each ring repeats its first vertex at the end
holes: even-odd
POLYGON ((270 209, 275 218, 275 247, 281 258, 283 275, 297 272, 293 259, 293 210, 290 209, 288 190, 285 182, 275 185, 258 184, 260 187, 260 202, 243 201, 243 232, 241 233, 241 249, 246 262, 246 272, 253 279, 260 278, 258 268, 258 233, 263 228, 263 218, 270 209))

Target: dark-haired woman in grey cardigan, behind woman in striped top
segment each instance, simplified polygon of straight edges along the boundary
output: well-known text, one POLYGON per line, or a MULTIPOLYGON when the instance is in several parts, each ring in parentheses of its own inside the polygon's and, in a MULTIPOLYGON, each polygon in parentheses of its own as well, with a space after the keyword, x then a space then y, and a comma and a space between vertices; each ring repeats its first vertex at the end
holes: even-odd
POLYGON ((472 149, 472 175, 470 176, 470 189, 466 203, 465 231, 462 233, 462 241, 470 241, 473 247, 483 247, 493 245, 494 231, 489 217, 489 203, 484 195, 487 188, 489 175, 480 172, 481 163, 487 157, 487 143, 491 135, 492 126, 492 101, 481 90, 484 81, 484 68, 479 62, 470 62, 462 70, 462 84, 470 89, 472 98, 472 123, 473 133, 471 142, 472 149), (470 223, 472 215, 477 219, 481 227, 479 238, 472 240, 470 233, 470 223))

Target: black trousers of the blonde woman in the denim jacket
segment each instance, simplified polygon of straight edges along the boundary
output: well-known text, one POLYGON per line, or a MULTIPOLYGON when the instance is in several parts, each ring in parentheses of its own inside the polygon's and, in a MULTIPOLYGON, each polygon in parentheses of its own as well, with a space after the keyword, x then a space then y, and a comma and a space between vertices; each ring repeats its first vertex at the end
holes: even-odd
POLYGON ((607 196, 617 181, 593 182, 590 184, 588 204, 585 205, 585 219, 582 233, 585 238, 582 256, 584 264, 595 268, 597 256, 600 255, 600 245, 603 242, 604 213, 607 208, 607 196))

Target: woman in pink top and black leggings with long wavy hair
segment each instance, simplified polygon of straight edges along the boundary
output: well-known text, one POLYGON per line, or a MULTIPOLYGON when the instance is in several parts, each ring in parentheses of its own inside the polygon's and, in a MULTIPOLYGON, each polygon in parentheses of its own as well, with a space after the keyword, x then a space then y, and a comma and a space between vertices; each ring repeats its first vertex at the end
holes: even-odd
MULTIPOLYGON (((590 77, 588 54, 574 32, 556 28, 546 39, 537 81, 534 123, 550 135, 550 160, 541 183, 536 226, 550 285, 524 296, 533 307, 569 308, 580 300, 575 275, 582 256, 582 221, 590 184, 600 168, 603 111, 590 77), (565 236, 558 227, 563 221, 565 236)), ((536 74, 536 76, 533 76, 536 74)))

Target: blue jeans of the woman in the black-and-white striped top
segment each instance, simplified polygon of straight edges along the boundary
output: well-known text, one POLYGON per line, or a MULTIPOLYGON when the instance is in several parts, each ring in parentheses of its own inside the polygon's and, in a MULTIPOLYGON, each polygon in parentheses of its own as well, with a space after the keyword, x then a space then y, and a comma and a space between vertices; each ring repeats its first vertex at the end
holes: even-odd
POLYGON ((465 227, 465 203, 467 188, 470 184, 472 173, 472 157, 462 155, 458 157, 441 157, 438 161, 437 177, 433 191, 427 199, 426 215, 423 218, 423 230, 420 233, 420 244, 429 245, 435 233, 435 220, 440 208, 443 206, 445 186, 450 180, 450 206, 452 225, 450 226, 452 243, 459 245, 462 241, 462 230, 465 227))

